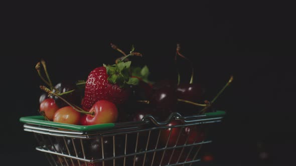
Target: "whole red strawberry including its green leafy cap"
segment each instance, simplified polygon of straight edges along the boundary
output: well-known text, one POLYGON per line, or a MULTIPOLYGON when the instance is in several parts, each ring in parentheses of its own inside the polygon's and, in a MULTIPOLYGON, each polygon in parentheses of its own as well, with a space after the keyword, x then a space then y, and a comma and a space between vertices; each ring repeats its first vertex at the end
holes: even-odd
POLYGON ((86 80, 82 107, 89 109, 96 101, 102 99, 114 104, 126 101, 130 94, 127 85, 138 84, 138 79, 129 75, 130 64, 131 61, 119 60, 117 64, 104 64, 93 69, 86 80))

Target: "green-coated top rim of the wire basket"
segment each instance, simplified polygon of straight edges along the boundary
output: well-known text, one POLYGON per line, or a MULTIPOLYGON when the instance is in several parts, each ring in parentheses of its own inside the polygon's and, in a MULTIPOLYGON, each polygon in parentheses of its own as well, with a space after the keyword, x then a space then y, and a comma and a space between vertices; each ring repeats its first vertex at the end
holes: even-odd
MULTIPOLYGON (((205 114, 202 114, 200 116, 195 116, 195 118, 199 119, 206 119, 211 117, 223 117, 226 114, 223 110, 217 110, 216 112, 206 112, 205 114)), ((167 121, 171 121, 172 118, 174 119, 180 119, 180 118, 192 118, 194 116, 181 116, 181 117, 171 117, 167 121)), ((116 125, 129 123, 129 124, 145 124, 149 121, 134 121, 134 122, 123 122, 123 123, 104 123, 104 124, 94 124, 94 125, 76 125, 76 124, 66 124, 66 123, 60 123, 60 122, 54 122, 54 121, 48 121, 44 119, 44 116, 41 115, 34 115, 34 116, 24 116, 20 118, 20 122, 23 123, 29 123, 29 124, 37 124, 37 125, 43 125, 43 126, 51 126, 51 127, 57 127, 61 129, 70 129, 70 130, 76 130, 76 131, 95 131, 95 130, 103 130, 103 129, 109 129, 114 128, 116 125)))

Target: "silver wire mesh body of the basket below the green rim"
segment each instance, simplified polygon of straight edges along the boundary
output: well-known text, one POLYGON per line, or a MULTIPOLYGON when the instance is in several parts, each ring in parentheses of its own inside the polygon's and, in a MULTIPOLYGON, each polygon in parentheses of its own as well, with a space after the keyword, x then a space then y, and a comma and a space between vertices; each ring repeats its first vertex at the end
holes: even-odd
POLYGON ((39 143, 36 149, 45 152, 50 165, 192 165, 200 161, 202 147, 211 142, 211 125, 220 121, 211 118, 171 126, 149 123, 141 128, 119 125, 96 132, 35 124, 24 124, 24 128, 34 133, 39 143), (186 128, 199 128, 204 137, 190 136, 193 129, 184 136, 186 128))

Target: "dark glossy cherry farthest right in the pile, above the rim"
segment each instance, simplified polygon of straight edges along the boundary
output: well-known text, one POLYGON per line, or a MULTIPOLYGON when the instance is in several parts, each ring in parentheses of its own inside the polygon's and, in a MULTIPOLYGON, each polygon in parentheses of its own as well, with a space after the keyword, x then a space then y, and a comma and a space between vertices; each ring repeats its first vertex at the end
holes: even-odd
POLYGON ((181 83, 177 86, 177 97, 189 101, 199 101, 203 95, 203 89, 197 83, 181 83))

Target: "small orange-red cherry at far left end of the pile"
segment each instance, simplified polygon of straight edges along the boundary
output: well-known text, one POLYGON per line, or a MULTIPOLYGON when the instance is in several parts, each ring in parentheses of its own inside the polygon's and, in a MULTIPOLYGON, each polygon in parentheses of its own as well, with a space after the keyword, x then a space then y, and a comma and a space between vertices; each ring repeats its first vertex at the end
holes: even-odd
POLYGON ((40 110, 45 112, 46 117, 49 120, 53 120, 55 112, 59 109, 56 102, 52 98, 47 98, 43 100, 40 104, 40 110))

